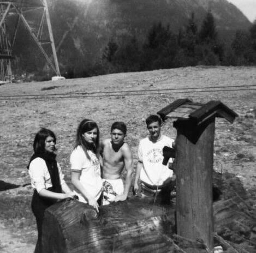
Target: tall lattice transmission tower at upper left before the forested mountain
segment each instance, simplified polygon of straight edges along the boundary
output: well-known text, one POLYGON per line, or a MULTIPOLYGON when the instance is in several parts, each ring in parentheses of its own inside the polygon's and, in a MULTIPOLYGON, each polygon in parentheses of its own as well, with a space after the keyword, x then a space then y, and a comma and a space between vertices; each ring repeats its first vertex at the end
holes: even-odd
POLYGON ((0 0, 0 79, 2 81, 10 81, 11 79, 10 60, 13 58, 12 49, 17 37, 20 22, 25 25, 27 31, 38 45, 49 67, 54 71, 56 76, 61 76, 46 0, 0 0), (39 21, 38 25, 35 24, 36 22, 33 22, 34 16, 39 21), (15 22, 11 22, 10 26, 13 27, 8 27, 9 23, 7 19, 9 17, 12 19, 15 17, 16 19, 15 22), (11 31, 11 28, 13 31, 10 35, 8 31, 11 31), (51 45, 50 51, 52 53, 53 62, 49 56, 49 50, 47 53, 45 48, 45 46, 49 46, 49 44, 51 45))

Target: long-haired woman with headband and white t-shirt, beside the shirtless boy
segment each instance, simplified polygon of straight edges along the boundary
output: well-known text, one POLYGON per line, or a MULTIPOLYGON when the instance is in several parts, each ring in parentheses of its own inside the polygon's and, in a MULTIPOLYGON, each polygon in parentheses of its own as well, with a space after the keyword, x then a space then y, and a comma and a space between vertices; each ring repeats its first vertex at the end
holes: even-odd
POLYGON ((79 201, 99 211, 97 202, 102 194, 100 177, 99 128, 90 119, 78 126, 75 148, 70 155, 71 179, 79 201))

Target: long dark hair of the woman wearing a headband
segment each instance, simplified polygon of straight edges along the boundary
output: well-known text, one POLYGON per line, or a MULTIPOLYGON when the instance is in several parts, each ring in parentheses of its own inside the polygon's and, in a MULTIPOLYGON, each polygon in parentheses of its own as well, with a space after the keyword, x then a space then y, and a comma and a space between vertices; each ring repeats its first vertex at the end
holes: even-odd
POLYGON ((97 157, 99 156, 99 128, 96 122, 91 121, 90 119, 83 119, 81 123, 78 125, 78 130, 76 131, 76 141, 75 141, 75 148, 81 146, 84 150, 86 157, 91 160, 90 156, 88 155, 87 150, 92 150, 97 157), (82 136, 85 132, 91 131, 92 129, 97 128, 97 137, 96 141, 91 144, 86 142, 85 138, 82 136))

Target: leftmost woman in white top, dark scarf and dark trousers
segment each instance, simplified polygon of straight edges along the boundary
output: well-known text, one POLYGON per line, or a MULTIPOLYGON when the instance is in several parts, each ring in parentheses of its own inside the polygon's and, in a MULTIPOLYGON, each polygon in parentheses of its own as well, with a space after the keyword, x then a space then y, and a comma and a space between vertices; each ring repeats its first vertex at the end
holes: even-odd
POLYGON ((42 128, 35 135, 34 154, 28 164, 28 172, 34 188, 31 207, 38 229, 36 253, 42 252, 41 236, 45 209, 58 200, 75 197, 75 194, 64 181, 61 167, 57 164, 56 154, 54 153, 55 145, 55 134, 49 129, 42 128))

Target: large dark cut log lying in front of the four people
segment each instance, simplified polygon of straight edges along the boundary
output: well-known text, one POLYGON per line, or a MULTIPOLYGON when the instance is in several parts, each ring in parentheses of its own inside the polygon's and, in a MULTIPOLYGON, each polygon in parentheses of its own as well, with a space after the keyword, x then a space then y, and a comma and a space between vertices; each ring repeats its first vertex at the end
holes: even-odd
POLYGON ((64 201, 45 211, 43 252, 174 252, 174 232, 170 206, 133 197, 97 214, 88 204, 64 201))

